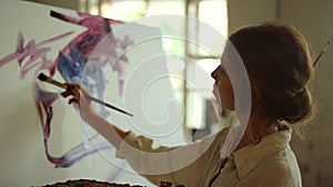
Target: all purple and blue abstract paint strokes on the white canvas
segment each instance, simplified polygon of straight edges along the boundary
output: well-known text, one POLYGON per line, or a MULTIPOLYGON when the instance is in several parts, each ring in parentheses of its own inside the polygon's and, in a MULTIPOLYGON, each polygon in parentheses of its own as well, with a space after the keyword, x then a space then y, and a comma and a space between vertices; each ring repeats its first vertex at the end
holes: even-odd
MULTIPOLYGON (((97 92, 98 97, 103 98, 104 86, 107 83, 103 69, 109 64, 113 71, 118 72, 119 94, 122 95, 124 63, 128 62, 128 58, 123 52, 129 45, 133 44, 133 41, 128 35, 123 40, 115 38, 112 34, 110 24, 122 24, 123 22, 81 12, 78 12, 80 19, 64 15, 56 11, 51 11, 50 15, 69 23, 85 27, 88 30, 80 33, 68 43, 59 52, 59 55, 53 62, 47 59, 47 53, 51 51, 51 48, 46 45, 73 32, 67 32, 39 43, 36 43, 34 40, 30 40, 26 45, 24 38, 22 33, 19 32, 14 52, 0 60, 0 67, 10 61, 16 60, 21 69, 20 79, 22 80, 33 69, 36 69, 34 80, 37 80, 37 76, 43 70, 49 71, 49 75, 53 76, 58 69, 65 82, 80 83, 87 87, 92 95, 97 92), (101 41, 107 42, 105 44, 108 48, 97 51, 95 46, 101 41), (89 65, 87 65, 88 62, 89 65), (83 71, 85 76, 83 76, 83 71), (93 82, 91 82, 91 80, 93 80, 93 82)), ((49 162, 56 167, 70 167, 90 154, 113 148, 105 142, 85 146, 87 143, 91 144, 91 141, 99 136, 95 134, 60 157, 50 155, 48 141, 53 117, 52 103, 59 98, 59 93, 44 91, 40 89, 37 83, 33 85, 32 91, 43 132, 44 152, 49 162)), ((100 107, 99 113, 102 116, 108 116, 109 114, 104 107, 100 107)))

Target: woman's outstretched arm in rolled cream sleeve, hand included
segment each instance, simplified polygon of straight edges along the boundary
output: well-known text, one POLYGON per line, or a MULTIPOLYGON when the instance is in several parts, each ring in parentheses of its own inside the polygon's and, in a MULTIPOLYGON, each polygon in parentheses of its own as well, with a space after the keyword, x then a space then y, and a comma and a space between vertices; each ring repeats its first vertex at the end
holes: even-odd
POLYGON ((67 85, 72 89, 63 92, 62 96, 73 96, 69 103, 79 105, 82 120, 115 146, 117 157, 127 159, 138 174, 155 185, 172 181, 174 185, 199 186, 202 183, 206 165, 214 162, 211 160, 212 153, 220 150, 220 144, 213 143, 215 136, 179 147, 157 145, 153 139, 123 132, 109 123, 94 112, 91 101, 83 96, 83 93, 89 94, 87 90, 78 84, 67 85))

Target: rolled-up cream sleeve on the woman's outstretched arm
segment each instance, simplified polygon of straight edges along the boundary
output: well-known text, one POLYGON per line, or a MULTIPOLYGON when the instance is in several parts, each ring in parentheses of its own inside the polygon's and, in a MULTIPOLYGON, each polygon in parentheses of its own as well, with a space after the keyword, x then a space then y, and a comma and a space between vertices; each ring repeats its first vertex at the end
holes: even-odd
POLYGON ((168 147, 129 132, 115 156, 127 159, 137 173, 154 185, 172 181, 173 185, 194 187, 202 180, 214 137, 211 135, 188 145, 168 147))

